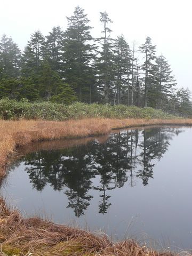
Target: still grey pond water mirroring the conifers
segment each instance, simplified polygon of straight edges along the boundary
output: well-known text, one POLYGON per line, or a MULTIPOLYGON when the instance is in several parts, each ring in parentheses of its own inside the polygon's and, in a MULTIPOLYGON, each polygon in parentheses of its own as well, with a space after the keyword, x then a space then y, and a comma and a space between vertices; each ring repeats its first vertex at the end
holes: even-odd
POLYGON ((27 216, 192 249, 191 138, 190 127, 156 127, 35 151, 1 194, 27 216))

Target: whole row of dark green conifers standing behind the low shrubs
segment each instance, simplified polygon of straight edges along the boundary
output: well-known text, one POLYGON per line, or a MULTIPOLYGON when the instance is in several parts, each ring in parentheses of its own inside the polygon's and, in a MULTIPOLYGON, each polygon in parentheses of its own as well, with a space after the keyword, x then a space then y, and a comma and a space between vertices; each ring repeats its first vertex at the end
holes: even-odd
POLYGON ((23 52, 11 37, 2 36, 0 98, 149 106, 191 115, 190 91, 175 87, 169 62, 156 55, 150 37, 137 49, 123 35, 111 38, 112 21, 101 12, 103 30, 93 38, 79 6, 67 21, 65 31, 59 26, 47 36, 35 31, 23 52))

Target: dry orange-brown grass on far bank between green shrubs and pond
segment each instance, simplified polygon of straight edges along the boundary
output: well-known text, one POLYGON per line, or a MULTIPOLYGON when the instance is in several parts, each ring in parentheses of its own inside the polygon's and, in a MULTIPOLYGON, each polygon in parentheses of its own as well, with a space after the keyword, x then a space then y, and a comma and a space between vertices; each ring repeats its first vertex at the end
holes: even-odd
POLYGON ((158 124, 192 125, 192 119, 81 119, 54 121, 0 121, 0 176, 5 175, 9 157, 30 142, 59 138, 81 138, 107 134, 111 129, 158 124))

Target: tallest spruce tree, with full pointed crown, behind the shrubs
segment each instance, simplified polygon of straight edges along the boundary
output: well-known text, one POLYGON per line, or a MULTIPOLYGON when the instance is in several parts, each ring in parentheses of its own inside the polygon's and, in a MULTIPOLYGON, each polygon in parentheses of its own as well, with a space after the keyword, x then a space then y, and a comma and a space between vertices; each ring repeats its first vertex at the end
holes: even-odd
POLYGON ((67 17, 67 20, 68 28, 63 47, 65 82, 73 87, 79 100, 89 101, 87 99, 94 84, 92 68, 94 45, 90 34, 90 21, 79 6, 75 8, 74 15, 67 17))

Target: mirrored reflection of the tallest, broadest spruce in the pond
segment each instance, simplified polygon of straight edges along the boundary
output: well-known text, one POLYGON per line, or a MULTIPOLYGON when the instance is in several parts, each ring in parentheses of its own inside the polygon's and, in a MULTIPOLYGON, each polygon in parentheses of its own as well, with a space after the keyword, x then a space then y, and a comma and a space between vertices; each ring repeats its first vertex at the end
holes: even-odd
MULTIPOLYGON (((86 146, 84 146, 85 148, 86 146)), ((77 217, 84 214, 84 210, 90 205, 89 201, 92 198, 91 195, 87 195, 87 192, 91 188, 91 178, 94 177, 94 172, 87 171, 90 158, 85 153, 86 149, 75 148, 68 152, 67 158, 64 157, 62 162, 64 184, 68 188, 65 191, 69 199, 67 207, 74 209, 77 217)))

